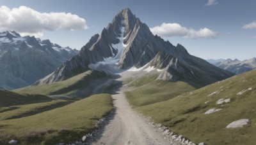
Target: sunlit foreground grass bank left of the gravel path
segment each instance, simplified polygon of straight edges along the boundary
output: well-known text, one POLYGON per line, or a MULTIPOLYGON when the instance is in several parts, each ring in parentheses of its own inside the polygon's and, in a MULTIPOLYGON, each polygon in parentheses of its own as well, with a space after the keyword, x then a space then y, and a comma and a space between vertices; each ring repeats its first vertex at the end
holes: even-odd
POLYGON ((0 113, 0 144, 6 144, 11 139, 17 139, 20 144, 57 144, 76 141, 95 128, 95 121, 106 116, 113 109, 113 103, 111 95, 92 95, 67 106, 6 120, 8 116, 26 114, 29 108, 40 110, 45 104, 15 107, 18 109, 0 113))

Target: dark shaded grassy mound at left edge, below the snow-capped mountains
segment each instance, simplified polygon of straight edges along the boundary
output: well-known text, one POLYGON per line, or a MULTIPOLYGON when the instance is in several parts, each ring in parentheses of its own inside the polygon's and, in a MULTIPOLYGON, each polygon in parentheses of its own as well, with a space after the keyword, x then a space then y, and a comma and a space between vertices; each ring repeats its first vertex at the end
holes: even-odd
POLYGON ((0 90, 0 107, 48 102, 52 99, 44 95, 14 93, 7 90, 0 90))

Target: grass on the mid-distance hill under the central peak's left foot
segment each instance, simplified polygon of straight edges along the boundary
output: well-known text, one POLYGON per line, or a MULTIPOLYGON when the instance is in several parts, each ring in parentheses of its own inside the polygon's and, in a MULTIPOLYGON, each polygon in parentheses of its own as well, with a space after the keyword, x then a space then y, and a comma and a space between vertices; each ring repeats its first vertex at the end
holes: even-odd
POLYGON ((90 84, 93 79, 103 76, 104 74, 100 74, 100 72, 86 71, 64 81, 58 81, 39 86, 29 86, 20 90, 15 90, 15 92, 38 93, 41 95, 72 95, 86 87, 90 88, 90 84))

